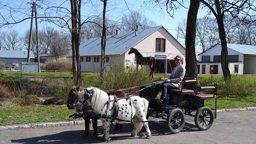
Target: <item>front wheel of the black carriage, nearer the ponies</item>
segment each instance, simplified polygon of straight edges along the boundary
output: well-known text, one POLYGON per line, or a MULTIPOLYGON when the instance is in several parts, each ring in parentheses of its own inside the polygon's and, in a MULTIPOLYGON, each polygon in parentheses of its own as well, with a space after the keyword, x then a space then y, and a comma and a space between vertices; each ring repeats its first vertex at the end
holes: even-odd
POLYGON ((179 108, 170 110, 169 116, 167 117, 167 127, 172 134, 179 133, 184 126, 185 118, 183 111, 179 108))

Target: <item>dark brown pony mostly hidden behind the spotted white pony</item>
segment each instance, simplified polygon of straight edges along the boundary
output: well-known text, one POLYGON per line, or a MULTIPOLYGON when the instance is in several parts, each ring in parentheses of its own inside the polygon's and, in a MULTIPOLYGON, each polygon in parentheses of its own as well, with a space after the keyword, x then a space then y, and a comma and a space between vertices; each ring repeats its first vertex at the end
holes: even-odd
MULTIPOLYGON (((75 104, 77 102, 77 94, 82 90, 84 90, 83 87, 72 86, 72 88, 68 94, 68 100, 67 100, 68 109, 75 108, 75 104)), ((119 98, 126 97, 126 94, 124 91, 108 90, 106 92, 108 93, 108 95, 116 95, 119 98)), ((79 110, 77 108, 76 108, 76 111, 79 112, 79 110)), ((97 122, 98 118, 89 116, 89 117, 83 117, 83 119, 84 119, 84 126, 85 126, 83 136, 88 136, 88 134, 89 134, 90 120, 92 121, 93 136, 98 136, 99 135, 98 122, 97 122)), ((121 129, 122 129, 122 125, 116 124, 114 130, 119 131, 121 129)))

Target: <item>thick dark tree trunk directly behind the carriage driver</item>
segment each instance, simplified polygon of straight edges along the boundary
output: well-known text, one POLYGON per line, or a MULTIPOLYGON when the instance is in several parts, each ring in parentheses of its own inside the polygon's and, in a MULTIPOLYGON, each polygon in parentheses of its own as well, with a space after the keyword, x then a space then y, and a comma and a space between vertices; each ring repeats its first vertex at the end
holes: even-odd
POLYGON ((186 74, 192 74, 197 77, 197 60, 195 53, 195 37, 196 37, 196 19, 200 5, 200 0, 190 0, 190 7, 187 17, 186 28, 186 74))

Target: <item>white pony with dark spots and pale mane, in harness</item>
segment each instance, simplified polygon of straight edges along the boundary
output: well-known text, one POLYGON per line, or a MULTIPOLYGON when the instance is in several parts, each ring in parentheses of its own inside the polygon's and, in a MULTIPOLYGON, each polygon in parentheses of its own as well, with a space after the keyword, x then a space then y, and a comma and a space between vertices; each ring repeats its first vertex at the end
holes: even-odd
MULTIPOLYGON (((114 113, 114 96, 108 96, 108 94, 95 87, 89 87, 78 93, 78 102, 76 107, 83 109, 90 107, 96 114, 106 114, 113 116, 114 113)), ((151 132, 147 122, 136 122, 136 121, 147 121, 146 114, 148 108, 148 101, 139 96, 129 96, 118 100, 119 110, 117 117, 113 120, 115 123, 123 124, 125 121, 132 120, 134 123, 134 129, 131 136, 137 135, 141 128, 146 128, 146 138, 150 138, 151 132)), ((104 130, 103 139, 105 141, 110 140, 110 121, 112 119, 100 118, 104 130)))

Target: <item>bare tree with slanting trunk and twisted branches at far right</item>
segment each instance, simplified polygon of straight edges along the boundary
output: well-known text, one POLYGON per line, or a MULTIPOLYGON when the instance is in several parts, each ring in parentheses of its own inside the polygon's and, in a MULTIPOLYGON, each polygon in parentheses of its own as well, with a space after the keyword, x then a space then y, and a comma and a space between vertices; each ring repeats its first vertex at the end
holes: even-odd
POLYGON ((228 49, 226 31, 224 27, 224 15, 229 14, 240 21, 250 23, 256 21, 255 0, 201 0, 201 2, 210 9, 210 12, 217 19, 219 28, 219 38, 221 42, 221 68, 225 81, 231 78, 228 65, 228 49))

